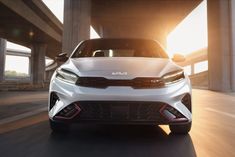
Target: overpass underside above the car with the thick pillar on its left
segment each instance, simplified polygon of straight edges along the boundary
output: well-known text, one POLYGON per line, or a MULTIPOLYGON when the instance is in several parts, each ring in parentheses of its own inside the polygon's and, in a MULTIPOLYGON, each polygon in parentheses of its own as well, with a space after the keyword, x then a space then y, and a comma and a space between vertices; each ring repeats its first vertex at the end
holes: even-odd
POLYGON ((66 0, 63 51, 90 37, 90 25, 104 38, 137 37, 158 40, 166 36, 201 0, 66 0))

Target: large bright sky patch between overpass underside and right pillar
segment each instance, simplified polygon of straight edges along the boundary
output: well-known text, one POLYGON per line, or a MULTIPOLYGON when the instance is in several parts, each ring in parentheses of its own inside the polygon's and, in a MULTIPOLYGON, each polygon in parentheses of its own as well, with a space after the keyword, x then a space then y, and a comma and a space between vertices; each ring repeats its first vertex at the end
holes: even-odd
POLYGON ((207 5, 203 1, 167 36, 167 51, 170 55, 187 55, 207 47, 207 5))

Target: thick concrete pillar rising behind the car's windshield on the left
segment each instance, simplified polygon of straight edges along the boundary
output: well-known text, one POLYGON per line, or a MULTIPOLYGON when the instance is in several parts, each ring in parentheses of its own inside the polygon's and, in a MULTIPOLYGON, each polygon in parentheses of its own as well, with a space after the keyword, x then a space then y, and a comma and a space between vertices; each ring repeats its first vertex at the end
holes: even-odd
POLYGON ((90 38, 90 0, 64 1, 64 31, 62 51, 71 54, 77 44, 90 38))

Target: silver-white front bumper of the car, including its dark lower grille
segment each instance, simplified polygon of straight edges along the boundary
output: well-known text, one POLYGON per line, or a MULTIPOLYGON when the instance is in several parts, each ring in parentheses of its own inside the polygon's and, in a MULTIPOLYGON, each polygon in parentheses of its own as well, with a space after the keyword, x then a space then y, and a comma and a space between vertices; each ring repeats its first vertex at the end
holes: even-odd
POLYGON ((188 78, 156 89, 89 88, 53 79, 50 99, 51 94, 58 98, 54 104, 49 100, 49 118, 54 121, 175 124, 192 120, 188 78))

